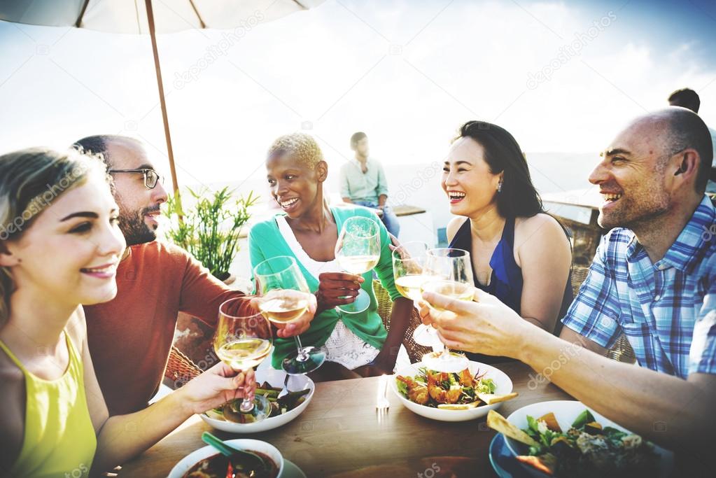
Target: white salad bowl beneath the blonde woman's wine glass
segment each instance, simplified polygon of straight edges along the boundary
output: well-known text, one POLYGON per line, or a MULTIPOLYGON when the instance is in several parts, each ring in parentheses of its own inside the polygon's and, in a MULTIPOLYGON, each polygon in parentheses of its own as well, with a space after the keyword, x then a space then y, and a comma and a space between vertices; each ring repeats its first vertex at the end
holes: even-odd
MULTIPOLYGON (((263 384, 264 381, 268 381, 271 386, 282 387, 284 386, 284 380, 286 379, 286 372, 283 370, 275 369, 264 369, 256 371, 256 383, 263 384)), ((299 416, 309 406, 309 402, 314 396, 316 391, 316 384, 313 380, 309 379, 305 375, 292 375, 289 379, 289 391, 300 391, 310 389, 306 395, 304 403, 296 406, 295 409, 286 411, 285 414, 278 416, 269 416, 267 419, 261 421, 254 421, 253 423, 236 423, 233 421, 226 421, 220 419, 213 419, 207 414, 200 414, 199 416, 203 421, 210 424, 214 428, 221 431, 228 431, 229 433, 259 433, 260 431, 273 430, 279 426, 284 426, 289 421, 299 416)))

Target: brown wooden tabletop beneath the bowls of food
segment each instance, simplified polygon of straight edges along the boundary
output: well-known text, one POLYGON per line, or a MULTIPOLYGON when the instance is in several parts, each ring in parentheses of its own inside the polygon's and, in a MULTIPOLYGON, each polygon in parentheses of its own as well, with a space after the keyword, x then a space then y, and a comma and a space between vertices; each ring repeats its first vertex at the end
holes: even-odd
MULTIPOLYGON (((551 384, 529 383, 530 374, 535 372, 521 362, 497 367, 508 374, 519 393, 499 409, 505 416, 538 401, 571 399, 551 384)), ((330 477, 382 464, 396 464, 397 470, 405 472, 394 472, 392 477, 414 478, 419 476, 416 469, 425 471, 426 457, 448 455, 475 459, 475 476, 495 476, 488 459, 488 447, 495 432, 487 428, 485 419, 458 423, 426 419, 402 406, 389 390, 390 411, 379 423, 375 411, 378 381, 378 377, 373 377, 316 384, 314 398, 303 414, 286 426, 260 434, 239 436, 213 431, 198 416, 193 416, 125 464, 120 478, 166 477, 180 459, 204 446, 200 435, 205 430, 222 439, 243 437, 270 442, 309 478, 330 477)))

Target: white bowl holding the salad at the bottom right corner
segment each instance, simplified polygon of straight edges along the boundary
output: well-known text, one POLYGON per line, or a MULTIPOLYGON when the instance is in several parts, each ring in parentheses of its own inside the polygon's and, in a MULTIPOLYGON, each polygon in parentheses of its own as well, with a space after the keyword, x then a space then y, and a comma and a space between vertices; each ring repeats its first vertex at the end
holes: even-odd
MULTIPOLYGON (((574 400, 541 401, 536 404, 526 405, 523 406, 521 409, 513 411, 510 416, 507 417, 507 421, 520 429, 526 429, 528 428, 528 415, 537 419, 544 414, 552 412, 557 419, 559 427, 563 431, 566 431, 571 428, 571 425, 574 423, 576 417, 579 416, 579 414, 581 414, 581 412, 583 412, 585 409, 589 410, 591 414, 594 415, 594 419, 602 426, 612 426, 618 430, 632 433, 631 431, 625 429, 624 426, 620 426, 619 424, 614 423, 614 421, 611 421, 610 419, 596 413, 596 411, 590 409, 589 406, 585 406, 583 403, 581 403, 581 401, 574 400)), ((505 436, 505 444, 507 444, 508 449, 515 456, 528 454, 527 445, 521 444, 517 440, 505 436)), ((657 447, 656 445, 654 445, 654 451, 661 456, 659 477, 669 476, 671 469, 674 467, 674 454, 661 447, 657 447)), ((533 467, 530 467, 528 465, 521 464, 521 466, 523 467, 523 469, 526 469, 533 477, 543 478, 547 476, 546 474, 539 472, 537 469, 534 469, 533 467)))

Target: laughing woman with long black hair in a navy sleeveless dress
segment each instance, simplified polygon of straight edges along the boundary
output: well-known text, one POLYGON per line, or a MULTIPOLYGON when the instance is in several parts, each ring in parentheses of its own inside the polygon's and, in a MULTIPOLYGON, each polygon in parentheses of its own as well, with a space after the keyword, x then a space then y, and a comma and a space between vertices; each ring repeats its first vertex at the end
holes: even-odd
POLYGON ((470 252, 475 286, 558 333, 572 301, 571 245, 544 212, 515 138, 497 125, 465 123, 445 159, 442 189, 458 216, 448 223, 450 247, 470 252))

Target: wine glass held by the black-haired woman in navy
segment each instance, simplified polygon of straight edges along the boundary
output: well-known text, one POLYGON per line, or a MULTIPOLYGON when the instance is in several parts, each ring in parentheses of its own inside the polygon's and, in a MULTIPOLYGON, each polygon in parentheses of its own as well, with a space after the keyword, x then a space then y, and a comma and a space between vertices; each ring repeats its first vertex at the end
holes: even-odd
MULTIPOLYGON (((400 295, 415 303, 422 301, 422 284, 430 280, 430 275, 425 270, 425 260, 429 249, 430 247, 426 243, 420 240, 411 240, 402 243, 392 253, 395 288, 400 295)), ((442 348, 442 342, 432 326, 421 323, 415 327, 412 338, 419 345, 442 348)))

